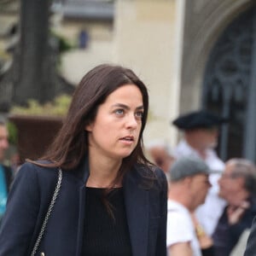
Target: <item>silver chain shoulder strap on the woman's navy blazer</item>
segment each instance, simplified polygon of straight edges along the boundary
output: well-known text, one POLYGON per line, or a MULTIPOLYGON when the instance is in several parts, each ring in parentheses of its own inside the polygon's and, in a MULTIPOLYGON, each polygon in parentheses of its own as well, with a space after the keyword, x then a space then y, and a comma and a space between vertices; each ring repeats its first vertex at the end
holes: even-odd
POLYGON ((56 187, 55 187, 55 192, 54 192, 54 195, 52 196, 52 199, 49 203, 49 208, 48 208, 48 211, 45 215, 45 218, 44 218, 44 223, 42 224, 42 227, 41 227, 41 230, 40 230, 40 233, 38 235, 38 239, 37 241, 35 242, 35 245, 33 247, 33 250, 32 250, 32 253, 31 253, 31 256, 34 256, 36 255, 37 251, 38 251, 38 247, 40 245, 40 242, 44 236, 44 231, 46 229, 46 226, 47 226, 47 223, 48 223, 48 220, 49 220, 49 217, 50 217, 50 213, 52 212, 52 209, 55 205, 55 201, 56 201, 56 198, 57 196, 59 195, 59 192, 60 192, 60 189, 61 189, 61 181, 62 181, 62 170, 61 168, 59 168, 59 172, 58 172, 58 181, 56 183, 56 187))

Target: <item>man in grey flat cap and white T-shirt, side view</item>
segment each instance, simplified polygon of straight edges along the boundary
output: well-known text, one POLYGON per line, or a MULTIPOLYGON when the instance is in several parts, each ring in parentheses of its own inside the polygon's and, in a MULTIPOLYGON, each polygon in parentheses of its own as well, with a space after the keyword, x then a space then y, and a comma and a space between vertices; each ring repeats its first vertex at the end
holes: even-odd
POLYGON ((214 255, 212 239, 203 232, 194 214, 211 188, 210 173, 205 162, 197 157, 182 157, 172 164, 166 236, 170 256, 214 255))

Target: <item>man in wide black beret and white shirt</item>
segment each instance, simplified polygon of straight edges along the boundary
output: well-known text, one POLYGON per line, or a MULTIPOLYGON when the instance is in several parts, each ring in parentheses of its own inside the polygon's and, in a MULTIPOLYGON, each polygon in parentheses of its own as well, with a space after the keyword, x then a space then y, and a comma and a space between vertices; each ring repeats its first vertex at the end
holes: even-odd
POLYGON ((209 236, 212 236, 225 206, 225 201, 218 197, 218 178, 224 170, 224 162, 214 150, 218 144, 218 128, 225 122, 227 119, 205 110, 186 113, 172 121, 183 131, 183 139, 173 150, 174 157, 200 157, 215 172, 209 177, 212 188, 209 189, 206 202, 196 210, 196 217, 209 236))

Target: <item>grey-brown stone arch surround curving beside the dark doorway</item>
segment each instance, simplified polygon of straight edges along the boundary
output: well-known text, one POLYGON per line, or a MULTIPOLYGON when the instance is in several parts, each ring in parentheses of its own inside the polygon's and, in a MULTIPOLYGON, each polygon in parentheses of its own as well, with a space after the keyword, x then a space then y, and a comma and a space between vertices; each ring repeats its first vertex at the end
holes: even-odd
POLYGON ((180 112, 201 106, 208 55, 218 36, 245 9, 249 0, 187 0, 183 33, 180 112))

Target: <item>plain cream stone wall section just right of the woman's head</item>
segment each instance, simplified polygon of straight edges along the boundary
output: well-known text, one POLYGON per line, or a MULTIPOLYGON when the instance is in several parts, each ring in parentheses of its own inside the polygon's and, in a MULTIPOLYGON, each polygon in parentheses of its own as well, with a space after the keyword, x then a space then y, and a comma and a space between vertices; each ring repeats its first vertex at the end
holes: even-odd
POLYGON ((114 60, 131 67, 147 84, 150 119, 145 143, 174 143, 170 120, 177 113, 177 9, 173 0, 119 0, 115 17, 114 60))

